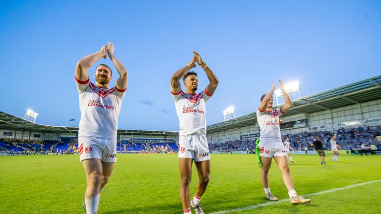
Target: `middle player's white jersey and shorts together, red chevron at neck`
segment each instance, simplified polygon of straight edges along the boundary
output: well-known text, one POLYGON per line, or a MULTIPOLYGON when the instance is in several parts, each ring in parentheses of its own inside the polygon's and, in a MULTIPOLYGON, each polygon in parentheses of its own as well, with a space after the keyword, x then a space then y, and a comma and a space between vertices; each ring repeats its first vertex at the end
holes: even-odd
POLYGON ((180 120, 179 158, 210 160, 206 138, 206 101, 212 96, 206 90, 198 94, 172 93, 180 120))

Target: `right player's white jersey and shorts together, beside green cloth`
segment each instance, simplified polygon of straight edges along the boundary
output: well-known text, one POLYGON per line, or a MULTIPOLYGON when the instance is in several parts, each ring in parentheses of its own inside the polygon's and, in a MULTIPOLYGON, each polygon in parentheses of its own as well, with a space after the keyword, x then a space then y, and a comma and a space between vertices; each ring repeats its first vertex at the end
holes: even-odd
POLYGON ((279 116, 283 112, 280 108, 271 111, 256 110, 256 118, 260 128, 259 156, 273 158, 286 156, 287 151, 283 146, 280 135, 279 116))

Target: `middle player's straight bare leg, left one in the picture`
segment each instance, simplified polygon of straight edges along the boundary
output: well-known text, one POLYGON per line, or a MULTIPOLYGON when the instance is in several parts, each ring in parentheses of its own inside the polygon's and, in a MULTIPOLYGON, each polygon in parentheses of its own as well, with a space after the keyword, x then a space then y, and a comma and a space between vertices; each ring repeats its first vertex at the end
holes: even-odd
POLYGON ((184 210, 191 207, 189 198, 189 185, 191 184, 192 178, 192 162, 193 159, 179 158, 180 199, 184 210))

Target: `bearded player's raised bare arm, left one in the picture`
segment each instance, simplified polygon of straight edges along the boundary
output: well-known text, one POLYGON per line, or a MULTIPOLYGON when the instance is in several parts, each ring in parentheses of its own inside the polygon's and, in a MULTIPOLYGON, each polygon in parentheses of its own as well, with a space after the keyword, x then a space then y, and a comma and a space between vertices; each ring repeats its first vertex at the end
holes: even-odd
POLYGON ((108 46, 104 45, 102 46, 99 52, 95 52, 94 54, 87 55, 77 62, 77 65, 75 67, 75 77, 77 78, 77 80, 86 81, 89 79, 89 74, 87 73, 87 69, 89 69, 89 67, 91 67, 100 58, 106 57, 107 49, 108 49, 108 46))

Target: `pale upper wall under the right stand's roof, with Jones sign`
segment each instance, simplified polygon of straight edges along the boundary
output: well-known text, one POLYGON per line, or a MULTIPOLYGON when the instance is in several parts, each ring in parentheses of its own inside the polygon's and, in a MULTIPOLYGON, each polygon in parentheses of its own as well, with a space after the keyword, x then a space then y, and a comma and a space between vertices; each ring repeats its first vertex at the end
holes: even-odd
MULTIPOLYGON (((339 107, 315 113, 299 113, 281 117, 285 124, 293 122, 291 128, 281 128, 281 133, 305 131, 332 131, 340 128, 381 125, 381 99, 360 105, 339 107), (331 116, 332 115, 332 116, 331 116)), ((259 124, 208 134, 209 143, 224 143, 230 140, 259 137, 259 124)))

